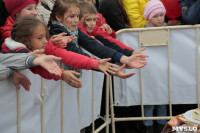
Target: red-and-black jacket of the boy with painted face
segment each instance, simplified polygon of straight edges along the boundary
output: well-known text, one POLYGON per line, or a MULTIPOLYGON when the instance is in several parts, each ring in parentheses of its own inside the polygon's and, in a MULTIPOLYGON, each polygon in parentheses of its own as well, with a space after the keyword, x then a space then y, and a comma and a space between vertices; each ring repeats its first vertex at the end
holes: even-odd
POLYGON ((112 38, 110 35, 108 35, 106 31, 100 29, 97 25, 91 33, 87 33, 87 31, 81 25, 78 25, 78 27, 82 32, 91 37, 94 36, 98 41, 100 41, 103 45, 107 47, 113 48, 127 56, 130 56, 133 52, 133 49, 131 47, 128 47, 121 41, 112 38))

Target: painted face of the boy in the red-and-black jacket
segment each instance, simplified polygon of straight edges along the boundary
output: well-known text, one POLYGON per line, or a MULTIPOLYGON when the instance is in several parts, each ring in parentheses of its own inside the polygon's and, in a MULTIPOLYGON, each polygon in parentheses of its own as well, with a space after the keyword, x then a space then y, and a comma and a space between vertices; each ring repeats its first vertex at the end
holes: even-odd
POLYGON ((94 27, 96 26, 96 19, 97 19, 97 14, 86 13, 80 19, 79 24, 83 26, 88 33, 91 33, 94 27))

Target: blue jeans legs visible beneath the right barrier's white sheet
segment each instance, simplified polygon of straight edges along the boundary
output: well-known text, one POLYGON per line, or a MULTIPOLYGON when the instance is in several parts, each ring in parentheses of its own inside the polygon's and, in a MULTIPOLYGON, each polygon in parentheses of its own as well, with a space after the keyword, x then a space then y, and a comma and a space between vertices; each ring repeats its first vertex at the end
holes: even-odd
MULTIPOLYGON (((167 115, 167 105, 144 105, 144 116, 152 117, 154 107, 157 111, 157 116, 166 116, 167 115)), ((167 120, 157 120, 158 124, 166 124, 167 120)), ((152 126, 153 120, 144 120, 145 126, 152 126)))

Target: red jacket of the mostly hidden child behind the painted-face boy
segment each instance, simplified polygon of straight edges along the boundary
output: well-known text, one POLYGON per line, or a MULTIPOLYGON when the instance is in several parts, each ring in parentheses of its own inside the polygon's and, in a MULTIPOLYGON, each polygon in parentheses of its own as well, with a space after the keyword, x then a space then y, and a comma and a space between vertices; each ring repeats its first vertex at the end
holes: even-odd
MULTIPOLYGON (((103 15, 101 13, 97 13, 97 21, 96 21, 96 25, 98 27, 102 26, 103 24, 107 24, 106 19, 103 17, 103 15)), ((111 37, 116 38, 116 33, 115 31, 112 29, 112 33, 110 34, 111 37)))

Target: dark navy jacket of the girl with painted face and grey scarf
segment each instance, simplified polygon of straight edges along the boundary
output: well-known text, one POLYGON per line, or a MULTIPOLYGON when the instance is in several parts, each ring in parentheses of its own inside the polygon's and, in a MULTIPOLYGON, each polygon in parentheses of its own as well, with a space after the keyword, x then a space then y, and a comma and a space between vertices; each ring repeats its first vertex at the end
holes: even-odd
MULTIPOLYGON (((57 24, 52 24, 50 28, 50 35, 56 35, 60 33, 67 33, 67 36, 70 36, 70 33, 63 27, 57 24)), ((114 49, 109 47, 103 46, 99 44, 95 39, 89 37, 82 31, 78 29, 78 44, 83 47, 88 52, 92 53, 93 55, 99 58, 112 58, 112 62, 119 62, 122 53, 117 52, 114 49)), ((69 43, 66 47, 68 51, 73 51, 79 54, 86 55, 80 48, 76 46, 73 42, 69 43)))

